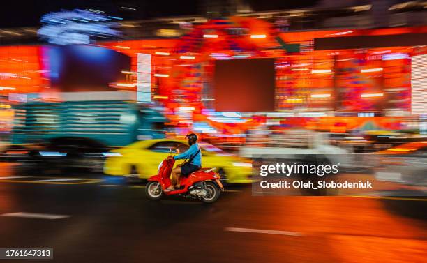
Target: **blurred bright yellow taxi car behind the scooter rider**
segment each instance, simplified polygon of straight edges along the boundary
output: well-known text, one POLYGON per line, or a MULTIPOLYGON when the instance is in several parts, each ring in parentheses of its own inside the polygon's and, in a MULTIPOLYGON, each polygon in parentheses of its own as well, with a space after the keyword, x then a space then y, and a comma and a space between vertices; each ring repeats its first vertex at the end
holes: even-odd
MULTIPOLYGON (((202 167, 215 167, 221 179, 227 183, 250 183, 252 164, 231 153, 206 142, 198 142, 202 152, 202 167)), ((188 149, 185 140, 156 139, 135 142, 120 149, 114 149, 107 156, 104 173, 115 176, 132 176, 147 179, 157 174, 158 165, 170 153, 170 149, 179 149, 181 153, 188 149)), ((182 163, 177 160, 176 163, 182 163)))

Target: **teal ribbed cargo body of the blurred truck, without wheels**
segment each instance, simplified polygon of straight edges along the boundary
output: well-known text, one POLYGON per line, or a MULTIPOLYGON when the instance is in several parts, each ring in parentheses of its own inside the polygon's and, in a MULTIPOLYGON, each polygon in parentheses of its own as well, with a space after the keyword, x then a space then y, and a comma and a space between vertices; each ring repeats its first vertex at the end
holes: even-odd
POLYGON ((24 103, 15 106, 12 144, 81 137, 105 146, 165 136, 166 119, 149 107, 123 101, 24 103))

